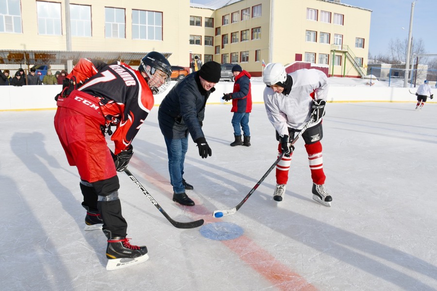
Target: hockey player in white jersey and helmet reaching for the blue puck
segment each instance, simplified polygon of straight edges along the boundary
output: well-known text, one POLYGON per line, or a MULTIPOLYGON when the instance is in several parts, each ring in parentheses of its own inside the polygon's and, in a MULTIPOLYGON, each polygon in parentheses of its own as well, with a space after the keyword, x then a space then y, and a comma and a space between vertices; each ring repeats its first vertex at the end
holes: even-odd
POLYGON ((278 157, 285 155, 276 166, 276 189, 273 199, 282 201, 288 181, 288 170, 294 146, 290 143, 296 132, 300 132, 305 123, 313 119, 302 138, 308 153, 308 162, 313 180, 313 199, 330 207, 332 197, 326 191, 325 174, 323 172, 322 116, 328 94, 328 78, 316 69, 302 69, 286 74, 285 67, 279 63, 267 65, 263 74, 264 104, 267 116, 276 129, 279 141, 278 157))

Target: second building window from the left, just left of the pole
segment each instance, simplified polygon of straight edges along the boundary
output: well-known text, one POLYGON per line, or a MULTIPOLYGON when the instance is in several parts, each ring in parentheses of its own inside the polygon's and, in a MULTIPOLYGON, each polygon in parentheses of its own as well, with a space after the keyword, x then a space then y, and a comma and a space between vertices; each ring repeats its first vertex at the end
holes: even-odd
POLYGON ((36 1, 38 34, 62 35, 61 3, 36 1))

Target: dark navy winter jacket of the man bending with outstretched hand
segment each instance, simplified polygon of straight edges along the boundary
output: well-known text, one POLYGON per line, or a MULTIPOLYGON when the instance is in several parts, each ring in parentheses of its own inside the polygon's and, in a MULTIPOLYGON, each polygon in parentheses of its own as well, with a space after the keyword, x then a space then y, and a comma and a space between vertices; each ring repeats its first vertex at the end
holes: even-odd
POLYGON ((179 81, 159 105, 158 122, 162 134, 170 139, 185 138, 188 132, 193 141, 205 137, 202 121, 206 100, 216 89, 203 89, 199 72, 194 72, 179 81))

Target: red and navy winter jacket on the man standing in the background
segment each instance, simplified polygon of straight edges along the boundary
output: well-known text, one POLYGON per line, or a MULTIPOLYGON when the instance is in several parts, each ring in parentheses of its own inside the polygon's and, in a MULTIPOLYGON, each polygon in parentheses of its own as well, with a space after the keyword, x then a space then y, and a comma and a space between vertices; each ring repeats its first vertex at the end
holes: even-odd
POLYGON ((251 74, 243 70, 235 77, 231 112, 252 112, 251 74))

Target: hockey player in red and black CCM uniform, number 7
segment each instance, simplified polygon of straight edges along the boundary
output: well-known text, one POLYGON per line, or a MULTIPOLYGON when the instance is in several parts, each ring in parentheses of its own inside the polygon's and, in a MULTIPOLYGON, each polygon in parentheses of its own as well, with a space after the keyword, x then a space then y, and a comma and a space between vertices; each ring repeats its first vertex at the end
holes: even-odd
POLYGON ((155 51, 141 59, 138 70, 121 62, 81 59, 56 97, 54 126, 68 163, 81 177, 85 230, 103 229, 108 270, 148 259, 146 246, 131 245, 126 238, 117 171, 128 165, 132 140, 153 107, 153 94, 167 89, 170 75, 168 60, 155 51), (111 126, 116 126, 114 154, 105 139, 111 126))

